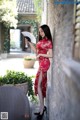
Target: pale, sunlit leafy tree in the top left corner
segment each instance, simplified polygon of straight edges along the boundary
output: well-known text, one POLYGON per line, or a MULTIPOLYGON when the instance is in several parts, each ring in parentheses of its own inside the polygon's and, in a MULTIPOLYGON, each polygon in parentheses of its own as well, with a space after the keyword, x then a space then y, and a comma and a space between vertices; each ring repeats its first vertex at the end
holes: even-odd
POLYGON ((7 27, 17 27, 16 0, 0 0, 0 22, 7 27))

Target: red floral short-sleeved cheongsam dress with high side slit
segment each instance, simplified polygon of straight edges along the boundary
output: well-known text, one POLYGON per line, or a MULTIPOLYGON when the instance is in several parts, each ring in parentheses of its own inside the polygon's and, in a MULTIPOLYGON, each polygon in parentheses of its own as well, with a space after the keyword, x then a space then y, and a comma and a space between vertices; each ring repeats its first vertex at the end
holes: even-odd
MULTIPOLYGON (((37 54, 47 54, 49 49, 52 49, 52 42, 48 39, 43 39, 40 40, 37 45, 37 54)), ((42 95, 43 97, 46 97, 46 86, 47 86, 47 70, 50 67, 50 60, 47 57, 39 57, 39 69, 36 74, 36 79, 34 83, 34 90, 35 90, 35 95, 38 94, 38 80, 39 80, 39 75, 40 72, 42 72, 42 95)))

